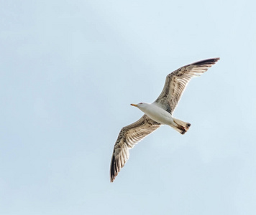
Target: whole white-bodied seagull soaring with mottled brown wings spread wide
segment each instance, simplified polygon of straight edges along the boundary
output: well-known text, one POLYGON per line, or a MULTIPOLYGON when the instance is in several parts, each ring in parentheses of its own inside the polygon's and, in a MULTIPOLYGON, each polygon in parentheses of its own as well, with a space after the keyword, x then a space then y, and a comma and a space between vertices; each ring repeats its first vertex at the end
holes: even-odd
POLYGON ((165 86, 159 97, 152 104, 140 102, 137 105, 144 115, 135 123, 125 126, 121 129, 116 143, 110 164, 110 181, 113 182, 118 175, 124 163, 129 158, 129 149, 140 142, 147 135, 157 130, 160 125, 169 125, 180 134, 185 134, 191 126, 191 123, 183 122, 173 118, 173 111, 178 105, 178 101, 192 77, 200 76, 206 72, 209 67, 214 65, 219 57, 204 59, 194 62, 191 65, 180 67, 171 72, 165 79, 165 86))

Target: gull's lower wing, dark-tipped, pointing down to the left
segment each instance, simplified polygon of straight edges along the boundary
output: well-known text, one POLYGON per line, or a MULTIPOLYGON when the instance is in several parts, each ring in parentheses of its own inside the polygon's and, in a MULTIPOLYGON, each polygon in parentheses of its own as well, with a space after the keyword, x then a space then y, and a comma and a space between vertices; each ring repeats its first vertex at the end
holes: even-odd
POLYGON ((119 136, 114 145, 114 151, 110 164, 110 181, 113 182, 117 174, 124 166, 129 158, 129 149, 140 142, 147 135, 160 127, 160 123, 150 119, 147 115, 143 115, 131 125, 127 125, 121 129, 119 136))

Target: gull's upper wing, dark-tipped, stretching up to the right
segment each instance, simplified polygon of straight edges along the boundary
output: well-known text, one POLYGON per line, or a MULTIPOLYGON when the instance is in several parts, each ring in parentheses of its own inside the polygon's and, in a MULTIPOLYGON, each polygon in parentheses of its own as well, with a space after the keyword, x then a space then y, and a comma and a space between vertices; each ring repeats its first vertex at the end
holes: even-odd
POLYGON ((218 60, 219 57, 204 59, 194 62, 191 65, 180 67, 178 70, 170 73, 166 77, 163 91, 159 97, 157 97, 155 103, 158 103, 158 105, 172 114, 191 78, 206 72, 208 68, 214 65, 218 60))

